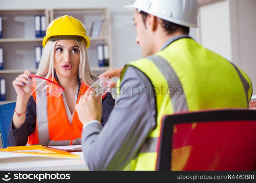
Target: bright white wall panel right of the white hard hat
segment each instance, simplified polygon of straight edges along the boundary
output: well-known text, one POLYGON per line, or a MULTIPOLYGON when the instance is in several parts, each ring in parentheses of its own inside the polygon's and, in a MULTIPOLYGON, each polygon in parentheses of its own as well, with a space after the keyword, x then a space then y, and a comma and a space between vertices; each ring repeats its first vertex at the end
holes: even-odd
POLYGON ((228 0, 201 6, 199 26, 201 44, 232 61, 228 0))

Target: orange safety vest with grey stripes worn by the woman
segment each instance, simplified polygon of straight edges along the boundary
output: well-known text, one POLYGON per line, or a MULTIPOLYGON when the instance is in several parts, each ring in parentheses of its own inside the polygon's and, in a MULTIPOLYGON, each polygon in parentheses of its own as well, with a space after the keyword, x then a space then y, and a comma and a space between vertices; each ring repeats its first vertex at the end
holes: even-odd
MULTIPOLYGON (((58 83, 55 79, 54 82, 58 83)), ((80 96, 83 95, 87 89, 88 86, 84 85, 82 82, 76 104, 78 103, 80 96)), ((36 90, 32 95, 37 104, 37 119, 36 129, 33 134, 28 137, 27 145, 41 144, 45 146, 54 146, 81 144, 81 132, 83 130, 83 124, 78 119, 76 110, 74 111, 72 123, 70 124, 66 114, 62 95, 59 97, 53 97, 50 95, 46 97, 45 90, 36 90), (41 97, 43 97, 43 99, 41 97), (40 101, 37 101, 39 98, 40 101), (47 102, 47 104, 44 103, 46 104, 44 105, 42 102, 47 102), (38 104, 40 106, 38 106, 38 104), (46 106, 47 109, 45 108, 46 106), (38 111, 38 109, 40 111, 38 111), (45 119, 40 121, 39 115, 45 117, 45 119)))

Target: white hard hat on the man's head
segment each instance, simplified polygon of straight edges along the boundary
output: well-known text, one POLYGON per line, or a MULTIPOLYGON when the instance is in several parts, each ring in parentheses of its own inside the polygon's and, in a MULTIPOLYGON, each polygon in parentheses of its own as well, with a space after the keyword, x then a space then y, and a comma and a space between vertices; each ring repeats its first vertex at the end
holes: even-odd
POLYGON ((124 6, 128 10, 144 11, 186 27, 198 27, 198 1, 197 0, 135 0, 132 5, 124 6))

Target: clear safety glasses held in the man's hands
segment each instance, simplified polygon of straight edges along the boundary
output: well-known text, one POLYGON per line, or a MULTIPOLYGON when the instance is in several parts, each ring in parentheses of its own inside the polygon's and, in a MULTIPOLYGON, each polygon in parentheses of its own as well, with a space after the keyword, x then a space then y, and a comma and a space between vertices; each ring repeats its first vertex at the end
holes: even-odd
POLYGON ((109 78, 100 78, 93 83, 89 90, 93 90, 95 95, 104 95, 110 91, 111 80, 109 78))

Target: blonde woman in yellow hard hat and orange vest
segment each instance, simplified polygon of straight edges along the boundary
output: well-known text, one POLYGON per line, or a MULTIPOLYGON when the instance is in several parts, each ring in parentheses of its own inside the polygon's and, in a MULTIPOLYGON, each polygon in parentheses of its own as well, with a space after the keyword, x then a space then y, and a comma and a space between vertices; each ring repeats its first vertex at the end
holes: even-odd
MULTIPOLYGON (((98 79, 89 68, 89 45, 78 19, 65 15, 50 23, 36 75, 26 70, 13 81, 17 103, 8 134, 10 146, 81 144, 83 125, 75 105, 98 79)), ((102 125, 113 106, 107 93, 102 99, 102 125)))

